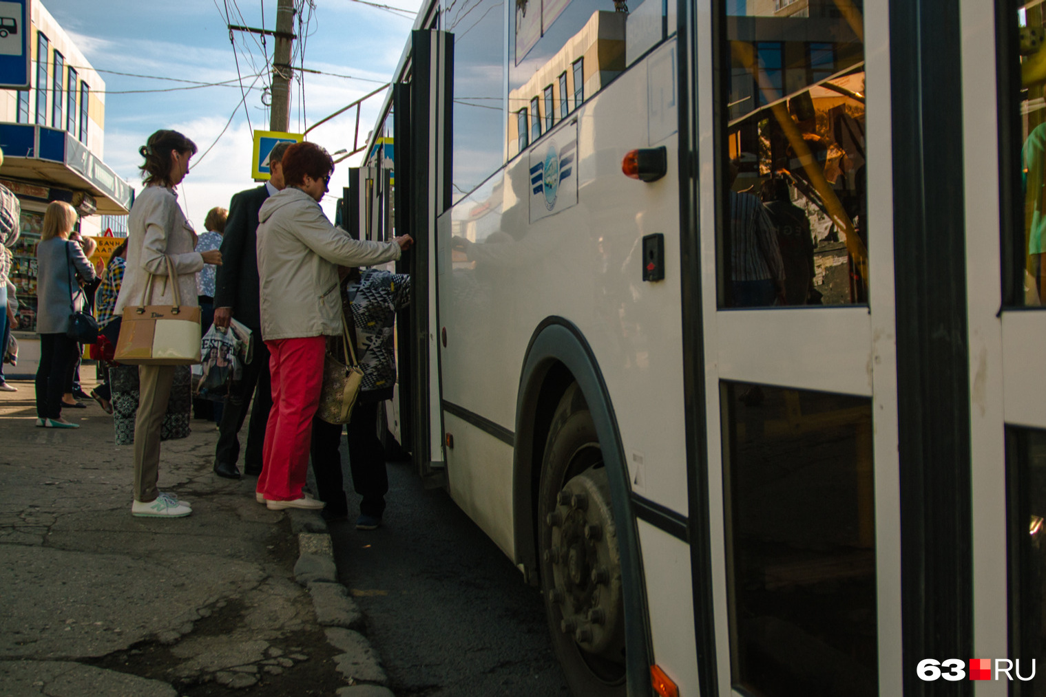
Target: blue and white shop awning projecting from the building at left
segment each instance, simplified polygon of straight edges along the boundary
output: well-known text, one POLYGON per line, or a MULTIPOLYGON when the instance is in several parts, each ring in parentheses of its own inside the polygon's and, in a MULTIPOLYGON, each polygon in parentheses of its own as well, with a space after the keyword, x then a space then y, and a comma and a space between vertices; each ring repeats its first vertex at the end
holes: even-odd
POLYGON ((134 190, 87 146, 65 131, 31 123, 0 122, 3 167, 0 177, 86 191, 97 212, 123 215, 134 190))

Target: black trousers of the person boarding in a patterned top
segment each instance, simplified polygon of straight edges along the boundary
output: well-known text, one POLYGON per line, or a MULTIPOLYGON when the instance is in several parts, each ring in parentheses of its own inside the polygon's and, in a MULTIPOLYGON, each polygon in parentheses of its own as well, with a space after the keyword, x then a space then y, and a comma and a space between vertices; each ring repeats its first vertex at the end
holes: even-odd
MULTIPOLYGON (((388 471, 385 468, 385 448, 378 438, 378 410, 385 402, 359 403, 347 424, 348 466, 353 473, 353 488, 362 496, 360 513, 382 517, 385 512, 385 494, 389 490, 388 471)), ((326 515, 343 515, 348 506, 341 475, 341 426, 313 419, 313 473, 316 475, 317 494, 326 504, 326 515)))

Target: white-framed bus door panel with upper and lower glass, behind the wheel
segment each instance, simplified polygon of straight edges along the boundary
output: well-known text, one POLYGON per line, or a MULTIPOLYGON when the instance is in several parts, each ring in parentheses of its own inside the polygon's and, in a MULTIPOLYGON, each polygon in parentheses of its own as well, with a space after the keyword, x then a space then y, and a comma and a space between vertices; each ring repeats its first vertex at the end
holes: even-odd
POLYGON ((887 5, 704 5, 682 255, 701 692, 900 695, 887 5))

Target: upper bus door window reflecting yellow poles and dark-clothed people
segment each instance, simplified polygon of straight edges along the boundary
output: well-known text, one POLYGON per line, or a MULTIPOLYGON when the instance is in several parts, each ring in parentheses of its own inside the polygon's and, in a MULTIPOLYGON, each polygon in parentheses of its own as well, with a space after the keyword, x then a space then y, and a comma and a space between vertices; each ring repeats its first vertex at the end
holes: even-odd
POLYGON ((730 61, 721 166, 733 181, 720 203, 720 305, 866 303, 863 1, 719 1, 730 61))

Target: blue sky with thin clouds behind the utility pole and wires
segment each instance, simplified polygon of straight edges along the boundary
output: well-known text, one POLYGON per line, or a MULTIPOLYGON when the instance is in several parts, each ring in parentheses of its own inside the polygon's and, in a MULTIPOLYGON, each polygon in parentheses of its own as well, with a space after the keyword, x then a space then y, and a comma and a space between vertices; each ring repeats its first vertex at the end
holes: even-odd
MULTIPOLYGON (((236 59, 245 89, 258 72, 266 73, 262 38, 234 32, 234 59, 225 15, 228 6, 232 24, 260 27, 264 9, 265 27, 272 29, 276 0, 177 0, 162 9, 160 3, 142 0, 38 1, 43 1, 95 69, 204 83, 233 80, 228 87, 117 94, 187 85, 101 73, 108 93, 103 160, 132 186, 141 186, 138 147, 157 129, 181 131, 200 147, 180 187, 182 206, 199 230, 203 230, 207 210, 213 206, 227 208, 233 193, 256 186, 250 177, 252 140, 243 107, 236 110, 225 134, 219 134, 243 98, 236 59), (213 148, 201 159, 212 143, 213 148)), ((301 84, 292 86, 291 131, 312 125, 389 82, 413 24, 412 16, 400 17, 353 0, 313 1, 315 9, 303 42, 304 67, 362 79, 301 73, 303 95, 301 84)), ((410 10, 420 4, 420 0, 377 1, 410 10)), ((305 15, 308 9, 305 2, 305 15)), ((300 39, 296 41, 296 46, 301 45, 300 39)), ((265 50, 271 61, 271 37, 265 50)), ((295 65, 299 61, 296 56, 295 65)), ((262 74, 246 99, 251 125, 266 131, 269 116, 262 103, 260 88, 268 84, 268 74, 262 74)), ((382 102, 383 95, 365 102, 360 118, 361 140, 373 125, 382 102)), ((350 110, 317 127, 309 134, 309 140, 331 153, 350 149, 355 114, 355 109, 350 110)), ((341 163, 331 182, 331 193, 322 205, 332 220, 335 202, 348 181, 347 166, 359 157, 341 163)))

